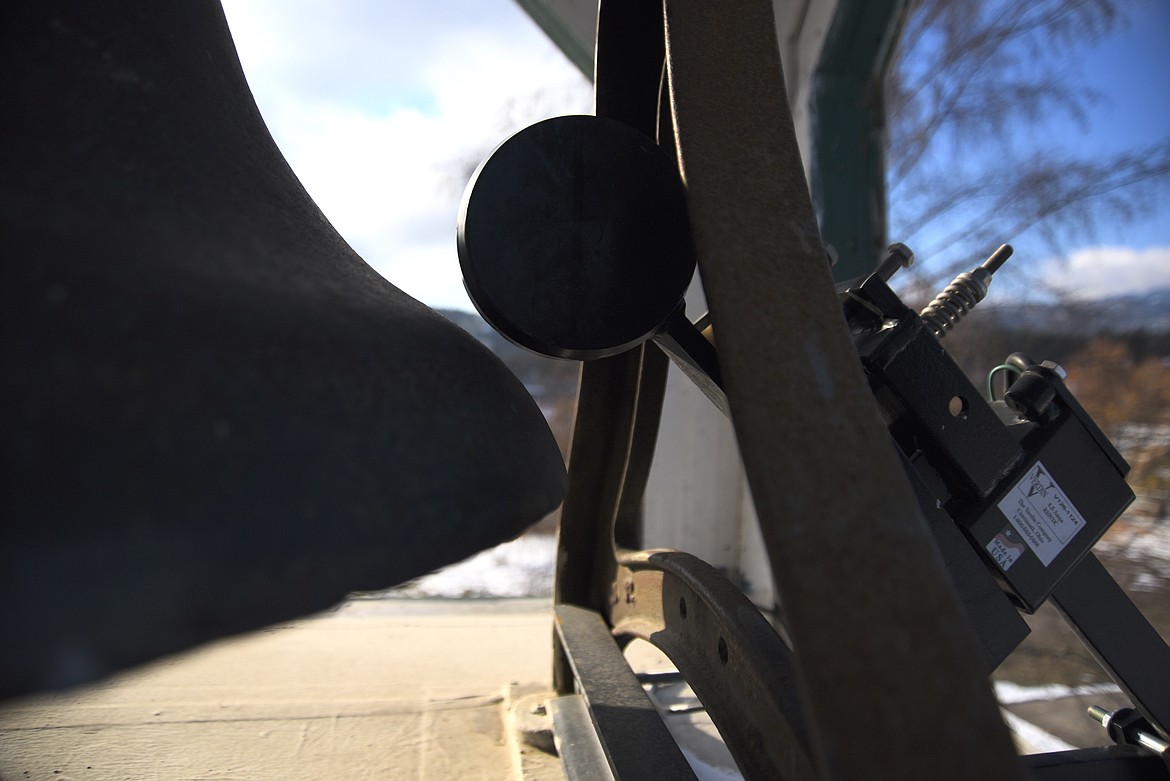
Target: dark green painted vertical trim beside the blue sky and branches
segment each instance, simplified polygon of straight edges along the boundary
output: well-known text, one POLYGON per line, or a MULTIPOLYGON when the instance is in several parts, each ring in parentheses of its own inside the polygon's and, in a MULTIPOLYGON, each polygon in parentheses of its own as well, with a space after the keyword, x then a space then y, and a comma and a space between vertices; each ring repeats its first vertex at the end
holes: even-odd
POLYGON ((886 251, 882 85, 906 0, 840 0, 813 76, 812 194, 838 281, 873 271, 886 251))

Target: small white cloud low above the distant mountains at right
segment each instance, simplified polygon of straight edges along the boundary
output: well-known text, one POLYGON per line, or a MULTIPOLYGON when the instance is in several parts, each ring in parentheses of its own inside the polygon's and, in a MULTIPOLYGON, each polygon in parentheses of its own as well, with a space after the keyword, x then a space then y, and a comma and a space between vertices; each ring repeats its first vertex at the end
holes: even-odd
POLYGON ((1047 275, 1078 298, 1107 298, 1170 288, 1170 246, 1089 247, 1067 263, 1048 261, 1047 275))

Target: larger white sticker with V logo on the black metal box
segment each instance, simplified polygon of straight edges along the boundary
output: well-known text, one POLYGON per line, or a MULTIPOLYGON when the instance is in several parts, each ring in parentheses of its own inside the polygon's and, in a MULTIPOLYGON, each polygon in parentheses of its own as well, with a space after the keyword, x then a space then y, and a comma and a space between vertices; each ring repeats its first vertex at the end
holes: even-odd
POLYGON ((1039 461, 999 502, 999 511, 1045 567, 1085 526, 1085 517, 1039 461))

